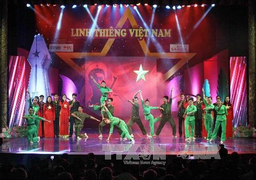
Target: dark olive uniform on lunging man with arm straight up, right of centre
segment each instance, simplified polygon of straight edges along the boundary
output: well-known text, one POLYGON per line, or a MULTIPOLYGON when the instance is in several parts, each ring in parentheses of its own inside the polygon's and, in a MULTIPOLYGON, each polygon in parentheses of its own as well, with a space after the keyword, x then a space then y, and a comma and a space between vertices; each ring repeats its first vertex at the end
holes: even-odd
POLYGON ((156 135, 158 136, 161 132, 161 130, 163 129, 163 126, 166 122, 169 122, 170 123, 170 126, 172 126, 172 129, 173 129, 173 136, 176 135, 176 124, 172 118, 172 115, 171 115, 171 111, 170 111, 170 107, 172 106, 172 98, 169 99, 169 102, 167 102, 166 104, 162 104, 160 107, 162 107, 164 110, 161 110, 161 113, 162 113, 162 118, 156 118, 157 120, 156 121, 160 121, 160 124, 157 128, 157 131, 156 131, 156 135), (159 119, 159 120, 158 120, 159 119))

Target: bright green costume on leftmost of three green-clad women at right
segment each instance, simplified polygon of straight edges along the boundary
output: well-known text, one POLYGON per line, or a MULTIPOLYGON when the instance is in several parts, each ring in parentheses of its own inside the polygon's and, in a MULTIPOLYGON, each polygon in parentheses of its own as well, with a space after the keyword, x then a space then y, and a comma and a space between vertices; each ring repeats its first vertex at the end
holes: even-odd
POLYGON ((194 138, 194 129, 195 129, 195 113, 197 111, 197 107, 194 105, 188 105, 184 115, 187 113, 193 112, 186 116, 185 119, 185 137, 186 138, 194 138), (190 133, 188 130, 188 126, 190 126, 190 133))

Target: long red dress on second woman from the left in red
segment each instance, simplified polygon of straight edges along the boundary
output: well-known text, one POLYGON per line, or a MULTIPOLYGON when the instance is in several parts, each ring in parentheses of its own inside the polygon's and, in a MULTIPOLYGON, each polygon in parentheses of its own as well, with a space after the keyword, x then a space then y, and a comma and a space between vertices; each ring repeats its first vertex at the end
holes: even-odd
POLYGON ((59 102, 60 105, 60 115, 59 115, 59 135, 65 136, 69 135, 69 117, 70 117, 70 109, 69 102, 59 102), (67 105, 67 107, 64 107, 67 105))

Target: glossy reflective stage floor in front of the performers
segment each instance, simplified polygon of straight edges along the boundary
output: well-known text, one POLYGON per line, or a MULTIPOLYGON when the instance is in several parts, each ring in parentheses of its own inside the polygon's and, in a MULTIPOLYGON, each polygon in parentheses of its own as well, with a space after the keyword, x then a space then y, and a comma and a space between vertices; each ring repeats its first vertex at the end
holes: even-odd
MULTIPOLYGON (((129 154, 129 153, 155 153, 166 155, 180 154, 204 154, 215 153, 220 149, 220 140, 207 142, 205 139, 196 139, 186 142, 184 138, 173 138, 164 134, 156 138, 146 138, 141 135, 135 136, 135 143, 120 141, 118 134, 113 134, 108 143, 108 134, 103 134, 99 139, 98 134, 88 134, 89 138, 77 140, 73 138, 41 138, 39 143, 29 144, 25 138, 4 139, 0 146, 0 153, 33 153, 33 154, 88 154, 93 152, 97 155, 107 154, 129 154)), ((239 154, 256 153, 256 139, 237 138, 227 139, 224 143, 228 153, 239 154)))

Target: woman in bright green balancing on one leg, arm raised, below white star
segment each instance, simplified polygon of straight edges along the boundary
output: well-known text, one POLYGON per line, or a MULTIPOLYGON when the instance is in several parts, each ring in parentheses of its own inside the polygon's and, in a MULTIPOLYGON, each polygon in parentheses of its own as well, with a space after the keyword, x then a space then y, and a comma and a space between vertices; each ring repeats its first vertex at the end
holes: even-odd
POLYGON ((161 118, 156 118, 154 119, 153 115, 150 113, 151 109, 161 109, 164 110, 162 107, 152 107, 150 106, 150 101, 148 99, 145 100, 145 103, 142 98, 142 94, 140 91, 140 99, 141 99, 141 104, 143 107, 143 113, 145 116, 145 120, 150 121, 150 136, 148 138, 156 137, 156 134, 154 134, 154 124, 155 122, 161 120, 161 118))

